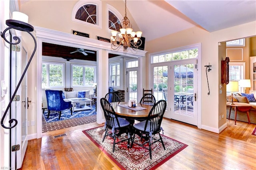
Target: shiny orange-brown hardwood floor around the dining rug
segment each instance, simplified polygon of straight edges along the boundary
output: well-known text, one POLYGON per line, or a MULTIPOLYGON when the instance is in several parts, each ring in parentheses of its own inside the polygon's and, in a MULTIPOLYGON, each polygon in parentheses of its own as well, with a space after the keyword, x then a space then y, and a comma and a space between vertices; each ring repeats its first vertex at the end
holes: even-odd
MULTIPOLYGON (((89 123, 43 133, 42 139, 28 142, 21 169, 24 170, 117 170, 120 169, 98 149, 82 130, 98 127, 89 123), (66 133, 66 136, 53 138, 66 133)), ((220 135, 190 125, 164 119, 164 135, 188 145, 158 170, 256 169, 255 124, 228 121, 220 135)))

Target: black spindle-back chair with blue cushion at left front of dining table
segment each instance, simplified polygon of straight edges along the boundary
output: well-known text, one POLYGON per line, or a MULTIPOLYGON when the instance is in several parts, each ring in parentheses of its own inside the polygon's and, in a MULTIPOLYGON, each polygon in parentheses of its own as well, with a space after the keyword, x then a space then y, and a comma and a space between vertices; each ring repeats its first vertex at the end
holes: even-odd
POLYGON ((118 117, 116 115, 116 112, 114 111, 111 104, 106 100, 105 98, 100 99, 100 105, 104 111, 104 116, 106 119, 105 123, 105 135, 103 137, 102 142, 104 142, 104 139, 106 138, 106 135, 114 139, 113 141, 113 152, 115 149, 115 145, 121 142, 124 142, 128 140, 127 147, 129 147, 130 144, 130 138, 131 138, 131 132, 130 132, 130 122, 126 119, 123 119, 121 117, 118 117), (122 133, 128 133, 128 138, 121 140, 118 136, 122 133), (116 138, 119 138, 120 141, 116 142, 116 138))

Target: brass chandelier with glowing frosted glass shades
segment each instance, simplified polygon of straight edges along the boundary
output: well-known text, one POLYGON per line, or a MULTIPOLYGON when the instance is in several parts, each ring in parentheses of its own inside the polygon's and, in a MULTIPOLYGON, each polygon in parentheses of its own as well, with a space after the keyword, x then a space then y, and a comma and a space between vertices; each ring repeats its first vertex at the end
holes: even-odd
POLYGON ((138 47, 142 44, 142 41, 140 39, 142 32, 132 31, 132 24, 130 23, 130 20, 127 18, 126 15, 127 13, 126 13, 126 0, 125 0, 125 16, 122 22, 120 23, 121 33, 118 34, 119 42, 116 41, 116 38, 117 38, 116 34, 118 33, 118 31, 114 31, 114 30, 111 31, 112 33, 112 36, 110 37, 112 41, 111 48, 114 50, 118 49, 120 45, 123 46, 124 51, 126 51, 128 47, 132 47, 133 50, 137 50, 138 47))

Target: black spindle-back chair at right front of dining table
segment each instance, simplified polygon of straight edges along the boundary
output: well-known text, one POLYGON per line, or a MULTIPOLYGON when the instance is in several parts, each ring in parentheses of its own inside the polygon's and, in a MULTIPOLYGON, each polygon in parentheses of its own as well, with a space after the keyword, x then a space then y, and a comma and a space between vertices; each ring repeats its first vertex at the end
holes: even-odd
MULTIPOLYGON (((156 142, 161 142, 162 146, 164 147, 164 142, 160 135, 160 131, 162 130, 161 123, 162 123, 165 109, 166 109, 166 101, 165 100, 158 101, 150 110, 147 119, 140 123, 136 123, 133 127, 134 135, 132 137, 131 147, 133 143, 136 143, 141 147, 148 149, 150 154, 150 159, 152 159, 152 153, 151 153, 152 144, 156 142), (136 134, 140 134, 140 138, 141 138, 140 143, 134 141, 136 134), (159 139, 153 136, 156 134, 159 135, 159 139), (148 147, 145 146, 147 143, 148 143, 148 147)), ((164 150, 165 150, 165 147, 164 147, 164 150)))

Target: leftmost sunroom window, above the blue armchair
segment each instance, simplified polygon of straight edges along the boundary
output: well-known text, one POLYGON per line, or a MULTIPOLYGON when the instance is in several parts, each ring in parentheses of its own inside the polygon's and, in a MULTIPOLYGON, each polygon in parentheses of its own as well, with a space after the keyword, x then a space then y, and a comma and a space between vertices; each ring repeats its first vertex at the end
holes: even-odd
POLYGON ((64 64, 42 63, 42 86, 64 87, 64 64))

